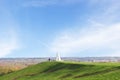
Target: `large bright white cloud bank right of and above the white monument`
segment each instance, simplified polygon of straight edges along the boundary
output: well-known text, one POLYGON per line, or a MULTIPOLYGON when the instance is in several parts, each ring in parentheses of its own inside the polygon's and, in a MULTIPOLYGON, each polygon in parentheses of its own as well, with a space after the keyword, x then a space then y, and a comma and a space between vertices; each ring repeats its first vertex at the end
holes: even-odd
MULTIPOLYGON (((103 24, 101 24, 103 25, 103 24)), ((53 41, 52 52, 75 53, 94 49, 120 50, 120 23, 85 28, 84 32, 62 33, 53 41)))

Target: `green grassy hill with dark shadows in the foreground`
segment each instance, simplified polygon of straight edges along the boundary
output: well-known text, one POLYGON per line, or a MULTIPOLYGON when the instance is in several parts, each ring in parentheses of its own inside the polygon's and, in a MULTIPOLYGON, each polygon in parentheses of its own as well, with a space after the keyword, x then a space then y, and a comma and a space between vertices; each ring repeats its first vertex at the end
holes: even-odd
POLYGON ((0 80, 120 80, 119 63, 43 62, 0 80))

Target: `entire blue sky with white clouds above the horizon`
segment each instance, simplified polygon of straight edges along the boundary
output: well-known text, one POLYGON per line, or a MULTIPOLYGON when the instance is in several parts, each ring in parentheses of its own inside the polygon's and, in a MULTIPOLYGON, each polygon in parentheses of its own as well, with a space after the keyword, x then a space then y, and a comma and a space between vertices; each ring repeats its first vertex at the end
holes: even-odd
POLYGON ((0 57, 120 56, 119 0, 0 0, 0 57))

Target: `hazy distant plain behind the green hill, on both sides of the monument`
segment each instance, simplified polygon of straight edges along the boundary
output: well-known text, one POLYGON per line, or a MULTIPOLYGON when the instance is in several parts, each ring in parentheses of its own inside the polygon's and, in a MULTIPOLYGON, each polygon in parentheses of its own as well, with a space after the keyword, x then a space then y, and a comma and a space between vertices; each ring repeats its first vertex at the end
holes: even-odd
MULTIPOLYGON (((14 71, 24 70, 32 65, 40 64, 42 62, 48 61, 48 57, 46 58, 1 58, 0 59, 0 75, 4 76, 8 73, 14 73, 14 71)), ((99 63, 99 65, 106 63, 119 63, 120 57, 63 57, 63 62, 75 62, 75 63, 99 63)), ((51 61, 55 61, 55 57, 51 58, 51 61)), ((105 65, 106 65, 105 64, 105 65)), ((45 65, 46 66, 46 65, 45 65)), ((72 66, 71 66, 72 67, 72 66)), ((74 65, 73 65, 74 67, 74 65)), ((79 67, 81 68, 81 67, 79 67)), ((72 69, 71 69, 72 70, 72 69)), ((0 76, 0 77, 1 77, 0 76)))

